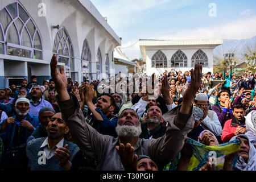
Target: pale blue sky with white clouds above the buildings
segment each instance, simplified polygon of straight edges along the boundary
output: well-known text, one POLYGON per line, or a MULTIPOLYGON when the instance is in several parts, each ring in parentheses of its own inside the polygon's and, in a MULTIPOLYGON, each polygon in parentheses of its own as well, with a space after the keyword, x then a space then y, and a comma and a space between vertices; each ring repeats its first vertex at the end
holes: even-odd
POLYGON ((130 60, 141 58, 139 39, 247 39, 256 35, 255 0, 91 2, 108 17, 130 60))

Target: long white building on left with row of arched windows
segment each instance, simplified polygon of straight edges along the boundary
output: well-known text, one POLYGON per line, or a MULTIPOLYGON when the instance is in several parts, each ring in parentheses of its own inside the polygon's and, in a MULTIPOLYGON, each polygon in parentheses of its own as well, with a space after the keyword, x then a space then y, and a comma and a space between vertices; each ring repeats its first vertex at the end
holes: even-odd
POLYGON ((114 76, 117 46, 121 39, 89 0, 0 2, 0 88, 51 78, 53 53, 73 81, 114 76))

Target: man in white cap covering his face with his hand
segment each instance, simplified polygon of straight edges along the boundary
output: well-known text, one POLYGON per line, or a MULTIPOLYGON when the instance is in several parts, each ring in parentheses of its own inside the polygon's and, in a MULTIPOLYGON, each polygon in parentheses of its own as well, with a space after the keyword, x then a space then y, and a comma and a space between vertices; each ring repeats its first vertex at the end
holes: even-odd
POLYGON ((203 121, 201 126, 205 130, 210 130, 216 137, 219 137, 222 133, 222 127, 220 121, 218 121, 218 116, 213 110, 209 110, 208 96, 205 93, 199 93, 196 95, 194 104, 204 111, 203 121))

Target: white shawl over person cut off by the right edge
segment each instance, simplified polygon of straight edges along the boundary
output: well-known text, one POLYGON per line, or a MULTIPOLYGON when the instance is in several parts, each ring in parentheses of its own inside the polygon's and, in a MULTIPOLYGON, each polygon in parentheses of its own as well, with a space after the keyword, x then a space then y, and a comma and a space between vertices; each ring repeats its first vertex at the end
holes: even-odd
POLYGON ((247 114, 245 119, 245 125, 247 132, 245 135, 249 138, 250 142, 256 148, 256 110, 247 114))

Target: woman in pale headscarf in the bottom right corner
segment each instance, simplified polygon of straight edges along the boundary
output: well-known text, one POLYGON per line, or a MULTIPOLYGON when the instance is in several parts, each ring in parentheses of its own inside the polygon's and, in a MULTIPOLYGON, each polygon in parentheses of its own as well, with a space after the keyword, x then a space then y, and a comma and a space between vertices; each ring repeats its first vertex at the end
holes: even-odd
POLYGON ((236 171, 256 171, 256 150, 245 134, 234 136, 230 142, 236 138, 240 139, 240 150, 238 151, 238 160, 236 171))

